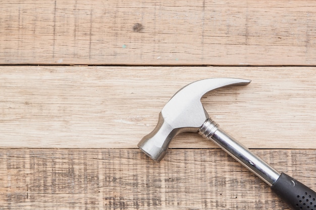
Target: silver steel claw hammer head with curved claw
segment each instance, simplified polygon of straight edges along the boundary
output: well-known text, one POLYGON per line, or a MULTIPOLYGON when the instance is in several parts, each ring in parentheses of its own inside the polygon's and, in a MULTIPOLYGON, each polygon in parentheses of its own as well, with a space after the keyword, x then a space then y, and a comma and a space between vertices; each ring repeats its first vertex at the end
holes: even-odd
POLYGON ((208 119, 201 98, 212 90, 231 86, 247 85, 251 81, 234 78, 213 78, 193 82, 180 89, 159 114, 156 127, 138 143, 147 156, 161 161, 167 153, 171 140, 181 132, 198 132, 208 119))

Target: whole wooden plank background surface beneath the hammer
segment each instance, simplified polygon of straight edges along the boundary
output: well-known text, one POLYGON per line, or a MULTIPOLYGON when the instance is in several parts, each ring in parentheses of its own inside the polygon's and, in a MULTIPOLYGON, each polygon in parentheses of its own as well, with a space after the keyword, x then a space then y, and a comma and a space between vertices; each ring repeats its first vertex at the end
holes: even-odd
POLYGON ((288 209, 196 133, 137 143, 182 86, 221 127, 316 189, 315 1, 0 2, 0 209, 288 209))

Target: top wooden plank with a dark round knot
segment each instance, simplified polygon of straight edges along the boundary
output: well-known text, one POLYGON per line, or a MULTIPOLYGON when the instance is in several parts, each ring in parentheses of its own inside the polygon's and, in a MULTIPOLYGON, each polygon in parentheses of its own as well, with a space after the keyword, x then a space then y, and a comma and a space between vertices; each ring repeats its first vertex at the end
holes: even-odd
POLYGON ((0 7, 0 64, 316 64, 311 0, 12 0, 0 7))

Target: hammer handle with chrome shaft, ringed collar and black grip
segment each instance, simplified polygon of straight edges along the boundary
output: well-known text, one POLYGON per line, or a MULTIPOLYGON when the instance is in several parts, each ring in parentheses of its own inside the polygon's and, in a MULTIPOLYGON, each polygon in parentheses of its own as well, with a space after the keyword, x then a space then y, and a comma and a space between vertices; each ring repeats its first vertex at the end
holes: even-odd
POLYGON ((220 129, 212 119, 208 118, 198 132, 203 137, 215 142, 243 166, 264 180, 292 209, 316 209, 316 192, 291 176, 279 173, 220 129))

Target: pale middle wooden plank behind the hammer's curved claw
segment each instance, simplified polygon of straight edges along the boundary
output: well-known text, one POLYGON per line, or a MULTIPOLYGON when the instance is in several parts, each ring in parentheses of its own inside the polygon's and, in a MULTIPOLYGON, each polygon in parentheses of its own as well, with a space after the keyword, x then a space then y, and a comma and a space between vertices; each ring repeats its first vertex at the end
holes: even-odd
MULTIPOLYGON (((248 148, 316 149, 315 67, 0 68, 0 148, 136 148, 181 87, 234 77, 252 82, 202 98, 224 130, 248 148)), ((217 146, 186 133, 171 148, 217 146)))

